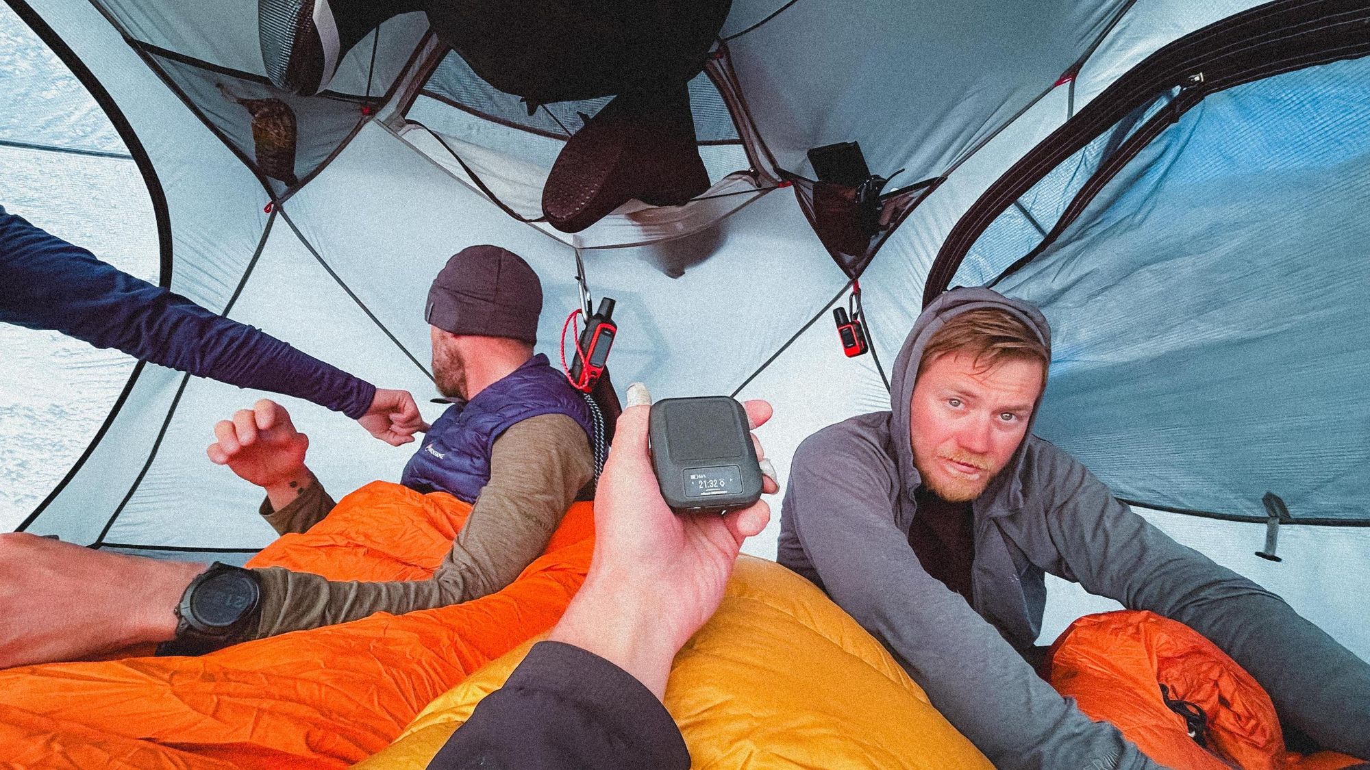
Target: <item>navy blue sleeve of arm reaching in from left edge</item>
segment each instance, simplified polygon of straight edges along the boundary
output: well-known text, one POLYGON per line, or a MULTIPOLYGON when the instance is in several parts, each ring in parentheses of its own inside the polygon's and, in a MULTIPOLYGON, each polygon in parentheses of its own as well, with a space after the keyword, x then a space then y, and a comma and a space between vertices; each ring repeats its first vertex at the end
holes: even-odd
POLYGON ((375 386, 100 262, 0 207, 0 322, 52 329, 197 377, 366 414, 375 386))

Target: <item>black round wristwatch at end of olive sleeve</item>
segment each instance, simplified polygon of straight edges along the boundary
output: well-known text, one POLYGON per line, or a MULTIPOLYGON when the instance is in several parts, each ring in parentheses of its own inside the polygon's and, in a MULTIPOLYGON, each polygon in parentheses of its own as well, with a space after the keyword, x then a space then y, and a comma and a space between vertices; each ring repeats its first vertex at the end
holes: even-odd
POLYGON ((256 573, 215 562, 200 573, 175 607, 175 638, 158 645, 158 655, 204 655, 236 641, 256 622, 262 585, 256 573))

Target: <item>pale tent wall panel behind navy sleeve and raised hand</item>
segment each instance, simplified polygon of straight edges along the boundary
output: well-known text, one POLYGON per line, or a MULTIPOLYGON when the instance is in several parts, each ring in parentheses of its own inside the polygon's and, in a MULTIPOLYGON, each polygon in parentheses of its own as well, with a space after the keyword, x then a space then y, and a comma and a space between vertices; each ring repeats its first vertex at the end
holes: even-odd
MULTIPOLYGON (((304 352, 369 381, 415 393, 432 390, 426 373, 366 318, 279 218, 227 315, 295 340, 304 352)), ((271 543, 275 530, 256 512, 260 490, 211 464, 204 454, 214 441, 214 423, 259 397, 285 406, 296 426, 312 438, 310 467, 334 496, 377 478, 397 481, 414 449, 374 441, 347 417, 299 399, 188 378, 152 463, 101 540, 247 552, 271 543), (190 493, 181 492, 186 480, 195 480, 190 493), (169 511, 167 499, 181 500, 169 511)))

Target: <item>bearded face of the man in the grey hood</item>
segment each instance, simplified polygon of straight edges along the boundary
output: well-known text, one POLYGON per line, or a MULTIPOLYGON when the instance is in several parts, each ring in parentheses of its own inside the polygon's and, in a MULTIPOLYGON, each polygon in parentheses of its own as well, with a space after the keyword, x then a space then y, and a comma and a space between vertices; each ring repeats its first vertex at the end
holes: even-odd
POLYGON ((1041 386, 1036 360, 984 367, 952 352, 929 363, 914 385, 908 426, 923 484, 949 503, 978 497, 1028 434, 1041 386))

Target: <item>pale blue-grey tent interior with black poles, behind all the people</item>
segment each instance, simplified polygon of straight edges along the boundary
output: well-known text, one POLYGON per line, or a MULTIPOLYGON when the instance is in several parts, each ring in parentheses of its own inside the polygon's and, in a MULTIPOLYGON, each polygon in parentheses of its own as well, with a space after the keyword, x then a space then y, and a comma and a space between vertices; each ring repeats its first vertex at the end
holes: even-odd
MULTIPOLYGON (((603 103, 529 115, 422 15, 303 99, 267 85, 251 0, 7 3, 0 203, 126 270, 426 396, 421 308, 451 253, 538 270, 553 359, 578 255, 618 300, 618 386, 769 399, 782 480, 803 437, 888 408, 880 362, 925 297, 991 284, 1054 325, 1040 434, 1370 658, 1370 3, 736 0, 690 86, 712 189, 574 236, 521 218, 603 103), (253 140, 264 99, 296 116, 293 159, 253 140), (806 159, 851 140, 899 171, 855 245, 815 234, 806 159), (848 359, 832 308, 858 275, 874 355, 848 359)), ((0 338, 10 529, 230 562, 273 538, 204 456, 258 393, 0 338)), ((330 489, 399 477, 408 449, 288 407, 330 489)), ((1049 586, 1044 640, 1112 604, 1049 586)))

